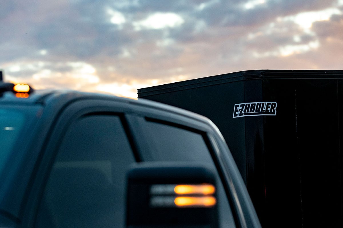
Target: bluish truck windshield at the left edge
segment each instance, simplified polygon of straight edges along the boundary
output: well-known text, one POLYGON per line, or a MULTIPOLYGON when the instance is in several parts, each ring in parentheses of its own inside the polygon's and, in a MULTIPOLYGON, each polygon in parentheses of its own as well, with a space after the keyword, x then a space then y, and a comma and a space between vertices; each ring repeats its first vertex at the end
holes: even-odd
POLYGON ((35 165, 37 154, 32 148, 42 113, 41 104, 0 101, 0 215, 19 216, 35 165))

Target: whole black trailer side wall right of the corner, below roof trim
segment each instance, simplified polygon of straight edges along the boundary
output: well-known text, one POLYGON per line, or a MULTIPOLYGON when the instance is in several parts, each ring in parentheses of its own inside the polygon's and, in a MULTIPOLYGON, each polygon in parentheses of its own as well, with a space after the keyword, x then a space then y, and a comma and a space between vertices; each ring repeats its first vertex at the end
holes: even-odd
POLYGON ((332 79, 264 80, 264 99, 278 104, 264 123, 267 227, 266 217, 284 227, 342 227, 337 88, 332 79))

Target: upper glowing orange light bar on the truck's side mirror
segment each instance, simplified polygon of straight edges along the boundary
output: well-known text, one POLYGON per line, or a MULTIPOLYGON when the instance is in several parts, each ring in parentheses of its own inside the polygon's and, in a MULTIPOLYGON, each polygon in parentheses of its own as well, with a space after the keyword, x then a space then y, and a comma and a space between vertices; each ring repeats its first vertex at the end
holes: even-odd
POLYGON ((212 195, 215 192, 215 187, 211 184, 177 185, 175 186, 174 191, 178 195, 186 195, 186 194, 212 195))

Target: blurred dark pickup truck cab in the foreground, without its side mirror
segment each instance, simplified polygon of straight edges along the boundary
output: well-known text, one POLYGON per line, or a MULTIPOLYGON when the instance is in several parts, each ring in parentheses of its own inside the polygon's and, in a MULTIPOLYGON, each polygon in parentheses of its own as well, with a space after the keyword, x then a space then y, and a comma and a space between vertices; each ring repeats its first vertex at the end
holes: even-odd
POLYGON ((147 100, 14 95, 8 88, 0 81, 0 227, 144 227, 127 216, 143 205, 128 196, 128 172, 161 164, 147 177, 161 174, 168 183, 177 173, 190 180, 199 174, 180 172, 185 164, 211 170, 218 227, 260 227, 230 151, 207 118, 147 100), (174 169, 165 175, 164 165, 174 169))

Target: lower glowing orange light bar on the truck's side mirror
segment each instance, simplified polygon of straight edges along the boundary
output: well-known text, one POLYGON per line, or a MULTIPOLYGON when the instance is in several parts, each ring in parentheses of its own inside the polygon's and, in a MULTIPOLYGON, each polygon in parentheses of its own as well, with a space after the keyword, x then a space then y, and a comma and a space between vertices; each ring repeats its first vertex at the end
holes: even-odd
POLYGON ((213 196, 176 197, 174 203, 178 207, 213 207, 216 199, 213 196))

